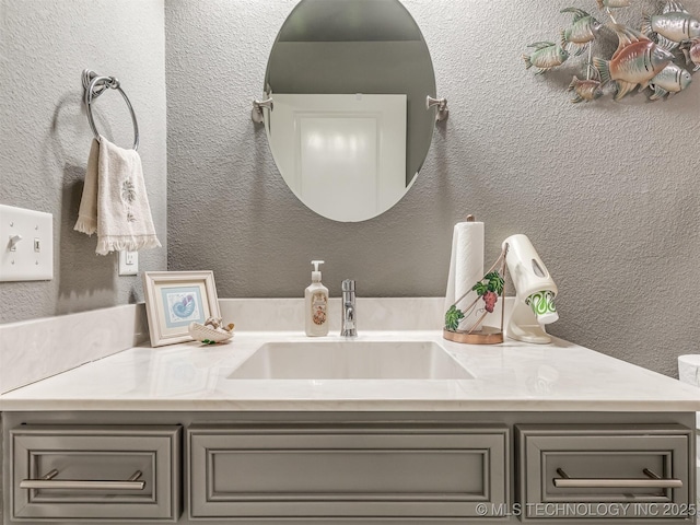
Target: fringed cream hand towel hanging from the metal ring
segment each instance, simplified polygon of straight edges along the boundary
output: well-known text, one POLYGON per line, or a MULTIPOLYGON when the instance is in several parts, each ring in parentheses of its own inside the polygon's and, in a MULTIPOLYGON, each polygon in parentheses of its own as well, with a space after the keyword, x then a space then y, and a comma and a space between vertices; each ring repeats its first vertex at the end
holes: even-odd
MULTIPOLYGON (((83 201, 88 199, 85 208, 89 206, 91 196, 94 195, 85 195, 89 189, 89 175, 90 170, 85 175, 83 190, 83 201)), ((121 149, 104 137, 100 137, 95 200, 97 202, 97 249, 95 252, 98 255, 107 255, 115 250, 136 252, 161 246, 151 218, 141 158, 136 150, 121 149)), ((83 202, 80 210, 83 211, 83 202)), ((81 222, 79 217, 75 230, 89 233, 89 226, 90 222, 81 222)))

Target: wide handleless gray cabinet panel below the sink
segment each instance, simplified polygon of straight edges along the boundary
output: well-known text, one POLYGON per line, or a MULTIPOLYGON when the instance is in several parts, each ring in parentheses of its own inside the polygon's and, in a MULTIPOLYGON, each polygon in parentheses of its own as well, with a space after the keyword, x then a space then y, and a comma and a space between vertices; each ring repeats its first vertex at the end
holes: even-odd
POLYGON ((505 508, 508 429, 225 425, 187 432, 191 520, 468 517, 505 508))

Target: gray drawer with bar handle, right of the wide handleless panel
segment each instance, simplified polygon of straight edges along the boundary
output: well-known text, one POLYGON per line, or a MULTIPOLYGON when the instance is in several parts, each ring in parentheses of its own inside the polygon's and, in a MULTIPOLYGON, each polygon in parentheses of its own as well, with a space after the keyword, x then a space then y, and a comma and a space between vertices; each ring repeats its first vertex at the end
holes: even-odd
POLYGON ((526 520, 692 522, 692 431, 681 425, 516 425, 526 520))

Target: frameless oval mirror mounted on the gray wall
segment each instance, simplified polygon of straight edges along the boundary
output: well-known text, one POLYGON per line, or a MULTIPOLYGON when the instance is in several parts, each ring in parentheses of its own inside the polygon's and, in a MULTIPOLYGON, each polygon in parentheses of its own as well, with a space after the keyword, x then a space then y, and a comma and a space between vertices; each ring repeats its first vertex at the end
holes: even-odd
POLYGON ((364 221, 413 184, 432 140, 435 75, 398 0, 302 0, 270 51, 265 94, 275 162, 316 213, 364 221))

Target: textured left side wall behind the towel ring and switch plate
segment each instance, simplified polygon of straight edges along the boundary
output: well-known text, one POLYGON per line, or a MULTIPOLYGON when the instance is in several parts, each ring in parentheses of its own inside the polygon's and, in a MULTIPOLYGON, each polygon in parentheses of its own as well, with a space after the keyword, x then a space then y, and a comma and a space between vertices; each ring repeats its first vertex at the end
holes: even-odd
MULTIPOLYGON (((137 113, 155 229, 163 248, 140 269, 166 266, 166 121, 163 0, 0 0, 0 202, 54 214, 52 281, 0 283, 0 322, 142 301, 140 277, 117 277, 116 256, 72 230, 92 131, 81 105, 85 68, 117 77, 137 113)), ((101 132, 132 141, 116 92, 95 105, 101 132)))

